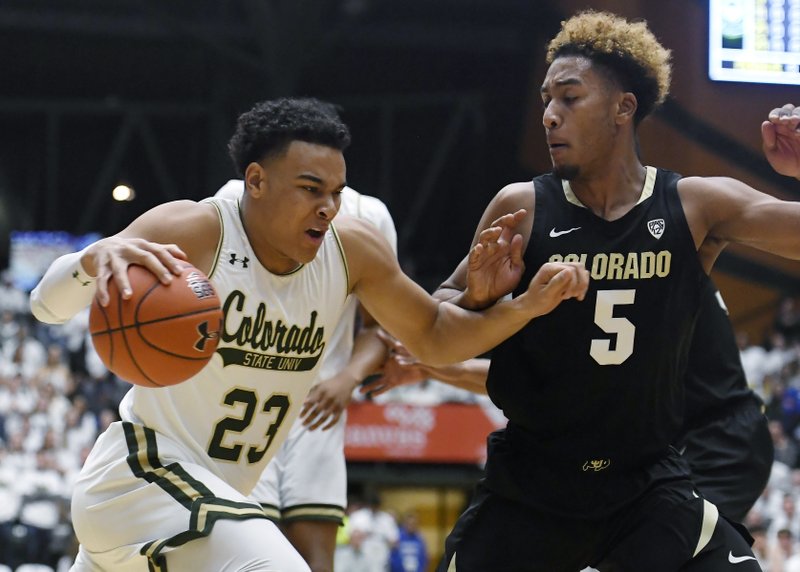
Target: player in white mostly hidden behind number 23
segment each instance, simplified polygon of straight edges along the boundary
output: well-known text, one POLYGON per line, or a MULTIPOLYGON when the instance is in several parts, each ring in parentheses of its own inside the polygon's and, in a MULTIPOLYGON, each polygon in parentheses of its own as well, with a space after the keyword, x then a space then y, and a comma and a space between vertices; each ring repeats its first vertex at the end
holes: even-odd
MULTIPOLYGON (((239 200, 243 191, 244 182, 231 179, 215 196, 239 200)), ((374 224, 397 253, 394 221, 380 199, 345 187, 339 214, 374 224)), ((355 387, 386 359, 375 320, 359 309, 350 296, 300 417, 250 495, 280 524, 312 572, 333 571, 336 533, 347 506, 346 407, 355 387)))

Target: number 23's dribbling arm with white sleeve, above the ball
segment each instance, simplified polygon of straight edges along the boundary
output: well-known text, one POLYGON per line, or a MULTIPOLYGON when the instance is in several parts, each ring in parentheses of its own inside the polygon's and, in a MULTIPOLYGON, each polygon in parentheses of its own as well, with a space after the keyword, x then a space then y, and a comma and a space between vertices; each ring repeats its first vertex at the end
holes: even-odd
POLYGON ((88 306, 95 294, 105 303, 111 279, 126 295, 131 264, 145 266, 164 283, 180 274, 187 260, 208 272, 219 232, 219 217, 211 205, 193 201, 159 205, 118 234, 54 261, 31 292, 31 310, 40 321, 65 322, 88 306))

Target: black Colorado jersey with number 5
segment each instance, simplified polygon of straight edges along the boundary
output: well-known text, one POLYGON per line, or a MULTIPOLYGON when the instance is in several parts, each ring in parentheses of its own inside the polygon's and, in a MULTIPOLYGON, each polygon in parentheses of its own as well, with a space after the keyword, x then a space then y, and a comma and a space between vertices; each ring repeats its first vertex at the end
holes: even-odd
POLYGON ((605 479, 662 457, 678 435, 708 281, 679 179, 648 167, 641 200, 614 221, 585 208, 552 174, 534 179, 534 223, 515 295, 548 261, 582 261, 591 276, 583 301, 562 302, 492 352, 489 395, 509 419, 512 447, 540 466, 605 479))

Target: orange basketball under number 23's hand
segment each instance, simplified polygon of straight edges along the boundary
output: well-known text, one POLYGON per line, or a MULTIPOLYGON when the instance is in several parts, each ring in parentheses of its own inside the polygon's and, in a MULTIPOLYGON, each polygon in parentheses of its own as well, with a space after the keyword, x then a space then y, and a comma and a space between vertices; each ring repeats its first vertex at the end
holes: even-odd
POLYGON ((124 300, 109 281, 108 306, 95 296, 89 332, 105 366, 145 387, 181 383, 214 355, 222 327, 219 297, 208 278, 188 267, 162 284, 143 266, 130 266, 132 295, 124 300))

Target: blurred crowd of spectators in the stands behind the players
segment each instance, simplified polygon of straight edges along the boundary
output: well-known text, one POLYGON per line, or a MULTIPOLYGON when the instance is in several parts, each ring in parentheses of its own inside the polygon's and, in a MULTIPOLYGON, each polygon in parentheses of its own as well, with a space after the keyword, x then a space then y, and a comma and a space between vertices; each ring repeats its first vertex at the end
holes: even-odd
MULTIPOLYGON (((767 572, 800 572, 800 307, 780 305, 765 340, 739 335, 742 362, 764 399, 775 442, 770 483, 748 515, 767 572)), ((38 563, 66 570, 76 550, 72 483, 97 435, 118 419, 129 385, 110 373, 88 334, 88 310, 61 326, 36 322, 28 295, 0 275, 0 572, 38 563)), ((428 380, 379 401, 414 405, 488 398, 428 380)), ((336 553, 339 570, 421 572, 427 551, 414 513, 353 502, 336 553)))

